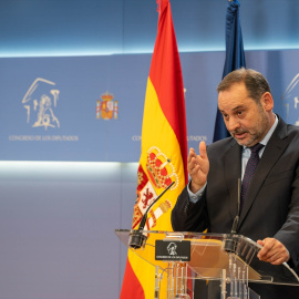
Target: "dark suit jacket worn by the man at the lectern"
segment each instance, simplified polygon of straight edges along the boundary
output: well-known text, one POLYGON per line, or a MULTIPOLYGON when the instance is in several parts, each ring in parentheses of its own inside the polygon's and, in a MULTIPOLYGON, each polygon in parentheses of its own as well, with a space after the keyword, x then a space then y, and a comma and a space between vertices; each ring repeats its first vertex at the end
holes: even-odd
MULTIPOLYGON (((228 137, 208 146, 210 168, 200 200, 189 202, 187 189, 172 212, 177 231, 230 233, 237 215, 243 147, 228 137)), ((240 214, 237 234, 252 240, 274 237, 299 264, 299 127, 280 117, 265 147, 240 214)), ((266 262, 264 262, 266 264, 266 262)), ((299 288, 298 288, 299 291, 299 288)), ((286 298, 286 297, 283 297, 286 298)))

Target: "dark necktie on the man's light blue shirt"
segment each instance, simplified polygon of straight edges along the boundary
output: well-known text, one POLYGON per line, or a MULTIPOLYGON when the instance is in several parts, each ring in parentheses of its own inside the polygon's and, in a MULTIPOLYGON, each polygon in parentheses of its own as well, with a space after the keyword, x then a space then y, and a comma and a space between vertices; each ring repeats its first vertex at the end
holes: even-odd
POLYGON ((243 209, 247 192, 250 187, 251 179, 254 177, 255 171, 257 168, 258 162, 259 162, 259 155, 258 152, 261 150, 264 145, 260 143, 257 143, 256 145, 249 147, 251 151, 251 155, 247 162, 246 169, 244 173, 243 182, 241 182, 241 194, 240 194, 240 212, 243 209))

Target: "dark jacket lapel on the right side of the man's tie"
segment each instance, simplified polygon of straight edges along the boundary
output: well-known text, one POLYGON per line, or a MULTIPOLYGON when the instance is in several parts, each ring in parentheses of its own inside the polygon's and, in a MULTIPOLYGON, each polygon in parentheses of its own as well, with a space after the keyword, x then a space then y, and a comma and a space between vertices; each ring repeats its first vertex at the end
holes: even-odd
POLYGON ((240 214, 239 226, 245 219, 248 210, 250 209, 252 203, 264 185, 266 177, 268 176, 270 169, 276 164, 277 159, 285 152, 289 142, 286 140, 287 126, 286 123, 280 118, 276 131, 270 137, 268 144, 265 147, 262 156, 258 163, 255 175, 252 177, 250 188, 248 189, 247 198, 244 203, 244 207, 240 214))

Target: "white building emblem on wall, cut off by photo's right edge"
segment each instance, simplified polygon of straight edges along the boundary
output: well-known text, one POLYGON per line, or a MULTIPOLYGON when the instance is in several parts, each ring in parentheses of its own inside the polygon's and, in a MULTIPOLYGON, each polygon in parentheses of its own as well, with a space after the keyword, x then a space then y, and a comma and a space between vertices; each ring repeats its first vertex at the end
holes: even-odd
POLYGON ((292 79, 281 96, 287 110, 287 122, 299 126, 299 73, 292 79))

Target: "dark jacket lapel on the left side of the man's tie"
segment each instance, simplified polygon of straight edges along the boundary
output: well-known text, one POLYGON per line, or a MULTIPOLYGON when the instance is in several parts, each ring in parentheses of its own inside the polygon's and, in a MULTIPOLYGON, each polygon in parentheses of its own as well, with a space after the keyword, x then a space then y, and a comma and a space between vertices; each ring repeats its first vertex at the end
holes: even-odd
POLYGON ((225 181, 229 190, 229 209, 231 219, 238 214, 238 178, 241 176, 243 147, 233 140, 224 159, 225 181))

